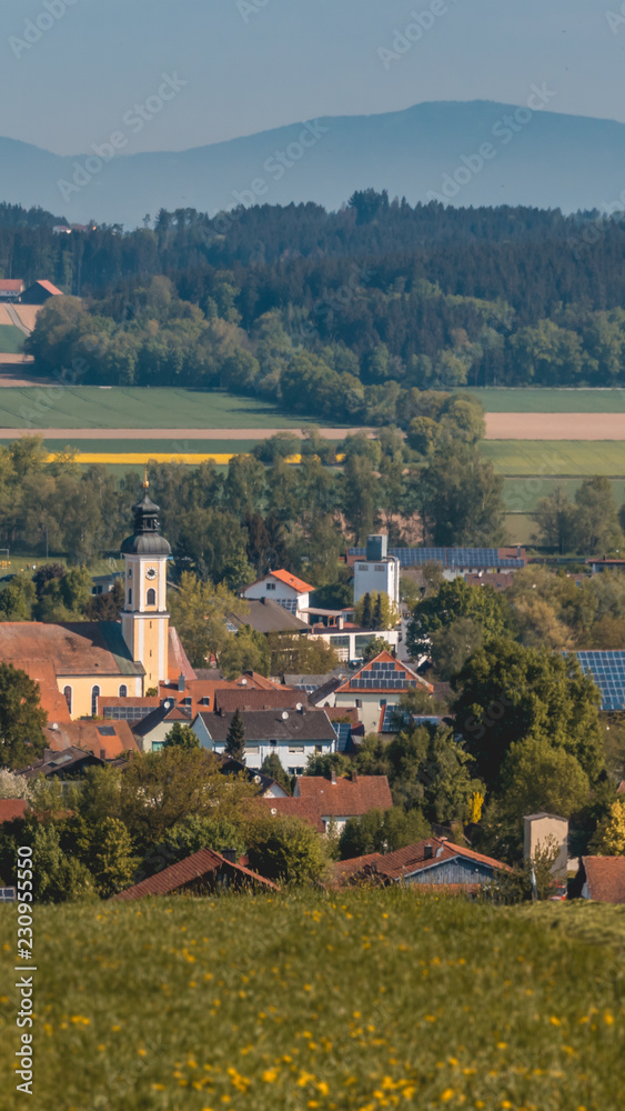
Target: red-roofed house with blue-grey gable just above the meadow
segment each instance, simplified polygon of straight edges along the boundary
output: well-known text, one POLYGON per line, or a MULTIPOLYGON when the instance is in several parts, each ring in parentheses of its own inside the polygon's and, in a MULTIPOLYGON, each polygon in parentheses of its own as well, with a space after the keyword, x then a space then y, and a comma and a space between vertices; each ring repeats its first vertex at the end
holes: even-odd
POLYGON ((510 872, 507 864, 481 852, 454 844, 446 838, 431 837, 389 853, 369 853, 334 864, 336 887, 354 882, 442 884, 446 888, 476 890, 493 880, 497 872, 510 872))

